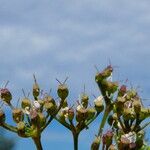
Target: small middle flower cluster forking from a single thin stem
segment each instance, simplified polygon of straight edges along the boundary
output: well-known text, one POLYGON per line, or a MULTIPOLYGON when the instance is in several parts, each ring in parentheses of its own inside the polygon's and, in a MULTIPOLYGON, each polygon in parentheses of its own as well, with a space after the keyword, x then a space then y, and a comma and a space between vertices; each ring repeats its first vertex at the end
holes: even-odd
POLYGON ((69 107, 67 100, 65 100, 55 119, 68 128, 76 138, 83 129, 88 129, 90 123, 97 118, 103 109, 102 96, 97 97, 91 106, 89 105, 89 96, 82 93, 80 101, 77 101, 77 104, 72 107, 69 107))

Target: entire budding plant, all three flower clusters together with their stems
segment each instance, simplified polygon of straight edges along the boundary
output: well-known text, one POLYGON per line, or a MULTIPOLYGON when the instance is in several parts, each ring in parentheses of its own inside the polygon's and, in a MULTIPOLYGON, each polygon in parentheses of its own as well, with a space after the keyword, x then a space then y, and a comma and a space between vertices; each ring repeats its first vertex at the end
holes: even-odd
POLYGON ((23 138, 32 138, 37 150, 42 150, 41 134, 53 119, 71 131, 74 150, 78 150, 78 137, 84 129, 101 114, 98 133, 91 145, 91 150, 137 150, 146 149, 144 129, 150 124, 150 109, 142 104, 137 90, 119 85, 112 80, 113 67, 107 66, 98 72, 95 81, 100 95, 90 100, 85 92, 72 106, 68 105, 69 89, 61 83, 57 89, 58 98, 43 94, 34 76, 32 97, 21 98, 20 107, 14 107, 12 94, 6 86, 0 89, 1 104, 9 106, 15 125, 7 123, 5 110, 0 107, 0 126, 17 133, 23 138), (59 99, 59 102, 56 100, 59 99), (108 123, 110 129, 104 132, 108 123), (104 133, 103 133, 104 132, 104 133), (102 146, 101 146, 102 144, 102 146), (100 147, 101 146, 101 147, 100 147))

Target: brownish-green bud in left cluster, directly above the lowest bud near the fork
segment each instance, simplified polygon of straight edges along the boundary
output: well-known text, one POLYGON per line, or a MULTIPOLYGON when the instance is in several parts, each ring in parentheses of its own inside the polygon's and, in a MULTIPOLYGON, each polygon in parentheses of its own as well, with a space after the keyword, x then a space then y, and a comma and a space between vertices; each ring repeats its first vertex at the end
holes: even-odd
POLYGON ((13 109, 12 116, 13 116, 14 122, 16 122, 16 123, 19 123, 24 118, 24 114, 23 114, 22 110, 19 108, 13 109))

